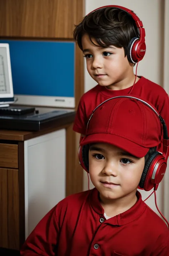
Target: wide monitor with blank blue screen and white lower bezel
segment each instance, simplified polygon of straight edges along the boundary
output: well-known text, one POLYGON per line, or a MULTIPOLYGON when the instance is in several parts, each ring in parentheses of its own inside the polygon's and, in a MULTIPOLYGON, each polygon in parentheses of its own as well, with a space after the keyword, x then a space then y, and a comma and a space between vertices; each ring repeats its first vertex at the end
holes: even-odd
POLYGON ((75 42, 11 38, 0 43, 9 44, 17 105, 75 108, 75 42))

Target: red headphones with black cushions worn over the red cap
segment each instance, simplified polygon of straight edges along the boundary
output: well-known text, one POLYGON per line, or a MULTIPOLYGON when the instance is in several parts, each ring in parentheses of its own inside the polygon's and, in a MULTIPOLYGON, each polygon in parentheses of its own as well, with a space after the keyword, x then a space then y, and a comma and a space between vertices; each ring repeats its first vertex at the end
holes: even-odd
MULTIPOLYGON (((158 151, 156 151, 149 156, 144 166, 143 174, 139 183, 139 188, 144 189, 145 191, 149 191, 152 188, 154 188, 154 190, 157 190, 159 183, 162 181, 164 177, 164 174, 167 168, 167 159, 169 157, 169 150, 168 150, 169 138, 168 138, 167 126, 165 124, 165 121, 158 114, 158 112, 144 100, 141 100, 132 96, 116 96, 108 100, 112 100, 115 98, 130 98, 130 99, 137 99, 141 101, 143 104, 147 105, 150 109, 154 111, 154 113, 159 117, 159 120, 163 125, 163 153, 161 154, 158 151)), ((97 108, 102 104, 104 104, 106 101, 98 105, 97 108)), ((93 110, 91 117, 88 120, 88 124, 92 118, 94 111, 97 108, 93 110)), ((87 127, 88 127, 88 124, 87 124, 87 127)), ((84 145, 79 147, 79 150, 78 150, 79 162, 82 168, 87 172, 89 172, 88 153, 89 153, 89 145, 84 145)))

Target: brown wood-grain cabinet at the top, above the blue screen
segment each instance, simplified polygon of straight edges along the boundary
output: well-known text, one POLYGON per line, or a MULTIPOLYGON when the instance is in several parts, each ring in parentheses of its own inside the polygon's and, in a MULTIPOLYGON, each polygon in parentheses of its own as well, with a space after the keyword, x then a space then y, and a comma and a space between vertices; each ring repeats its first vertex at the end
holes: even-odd
POLYGON ((2 37, 73 38, 83 0, 1 0, 2 37))

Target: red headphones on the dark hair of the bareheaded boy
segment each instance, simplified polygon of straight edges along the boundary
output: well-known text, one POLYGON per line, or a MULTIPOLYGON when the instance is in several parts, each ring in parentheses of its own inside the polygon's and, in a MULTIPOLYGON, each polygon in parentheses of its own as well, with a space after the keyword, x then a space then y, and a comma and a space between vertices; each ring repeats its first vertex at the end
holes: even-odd
MULTIPOLYGON (((112 7, 112 8, 117 8, 120 10, 125 11, 128 13, 130 16, 135 21, 135 24, 138 28, 139 31, 139 38, 138 37, 133 37, 129 43, 128 46, 128 53, 127 53, 127 58, 128 61, 131 63, 137 63, 138 61, 141 61, 145 55, 146 51, 146 46, 145 46, 145 29, 143 28, 143 23, 142 21, 138 18, 138 16, 130 9, 127 9, 123 6, 119 5, 106 5, 99 7, 93 11, 91 11, 89 14, 93 13, 96 10, 102 9, 102 8, 107 8, 107 7, 112 7)), ((87 15, 89 15, 87 14, 87 15)))

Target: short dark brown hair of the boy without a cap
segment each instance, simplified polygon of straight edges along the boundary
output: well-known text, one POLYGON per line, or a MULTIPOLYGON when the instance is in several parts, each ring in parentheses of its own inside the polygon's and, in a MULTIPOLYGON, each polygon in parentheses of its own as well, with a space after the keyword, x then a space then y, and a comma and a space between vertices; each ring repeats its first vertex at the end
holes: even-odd
POLYGON ((135 22, 126 11, 107 7, 96 10, 84 17, 76 25, 73 37, 82 50, 82 36, 88 34, 91 42, 96 46, 116 46, 124 48, 125 56, 130 40, 139 37, 135 22), (97 43, 95 44, 92 39, 97 43))

